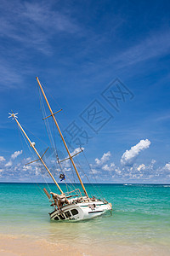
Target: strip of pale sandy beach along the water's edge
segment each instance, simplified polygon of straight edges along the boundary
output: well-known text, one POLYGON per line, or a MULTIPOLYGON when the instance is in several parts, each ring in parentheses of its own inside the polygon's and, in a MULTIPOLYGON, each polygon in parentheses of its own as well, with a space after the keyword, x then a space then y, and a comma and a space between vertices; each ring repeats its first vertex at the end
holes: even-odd
POLYGON ((117 244, 113 243, 112 248, 99 245, 93 247, 82 247, 81 242, 76 246, 66 245, 48 241, 45 238, 30 235, 4 235, 0 234, 0 255, 1 256, 168 256, 170 248, 153 244, 117 244))

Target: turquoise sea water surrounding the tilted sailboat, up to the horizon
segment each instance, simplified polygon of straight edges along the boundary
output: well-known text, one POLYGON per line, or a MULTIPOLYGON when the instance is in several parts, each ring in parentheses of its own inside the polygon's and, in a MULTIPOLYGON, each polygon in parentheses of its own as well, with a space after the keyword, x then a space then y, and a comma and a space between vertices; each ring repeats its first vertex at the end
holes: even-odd
MULTIPOLYGON (((112 215, 77 223, 50 221, 53 211, 42 194, 47 184, 0 183, 0 233, 25 234, 48 241, 100 245, 147 244, 170 248, 170 185, 87 184, 112 203, 112 215)), ((49 184, 57 192, 54 184, 49 184)), ((65 185, 61 184, 63 190, 65 185)), ((100 196, 100 195, 99 195, 100 196)), ((99 197, 98 196, 98 197, 99 197)))

